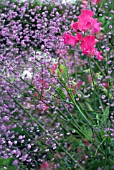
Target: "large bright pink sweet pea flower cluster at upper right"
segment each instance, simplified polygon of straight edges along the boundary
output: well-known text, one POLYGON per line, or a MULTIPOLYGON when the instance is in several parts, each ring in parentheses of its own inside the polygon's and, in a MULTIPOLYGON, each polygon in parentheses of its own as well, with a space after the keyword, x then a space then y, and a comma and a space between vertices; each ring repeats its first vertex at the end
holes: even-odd
POLYGON ((71 26, 73 31, 76 32, 76 36, 73 36, 71 32, 65 33, 63 36, 64 44, 76 46, 80 42, 80 47, 83 54, 90 56, 96 56, 98 60, 102 60, 102 52, 97 51, 95 48, 96 40, 95 33, 99 33, 101 23, 97 22, 96 18, 93 18, 94 13, 91 10, 82 10, 81 15, 78 17, 78 22, 74 22, 71 26), (90 35, 85 37, 80 32, 87 32, 90 30, 90 35), (80 31, 80 32, 79 32, 80 31))

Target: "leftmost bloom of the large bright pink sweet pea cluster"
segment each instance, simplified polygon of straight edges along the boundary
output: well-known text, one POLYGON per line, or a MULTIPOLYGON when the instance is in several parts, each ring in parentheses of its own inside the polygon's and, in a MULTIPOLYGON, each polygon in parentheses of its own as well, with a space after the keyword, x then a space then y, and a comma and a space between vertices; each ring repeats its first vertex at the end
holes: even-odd
POLYGON ((65 33, 63 35, 64 44, 75 46, 78 43, 78 40, 75 36, 71 35, 71 33, 65 33))

